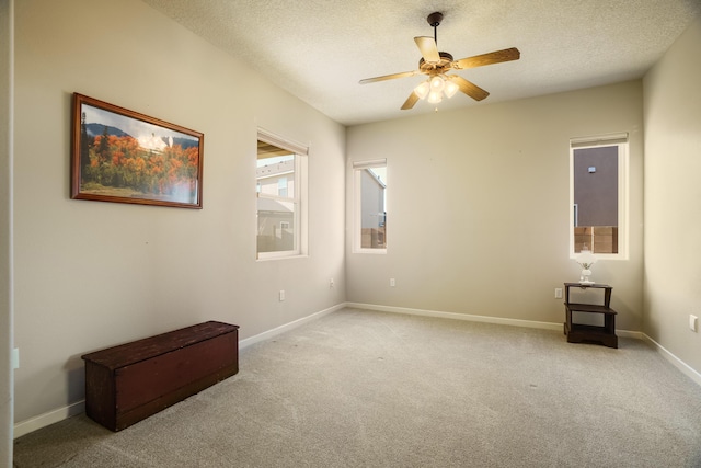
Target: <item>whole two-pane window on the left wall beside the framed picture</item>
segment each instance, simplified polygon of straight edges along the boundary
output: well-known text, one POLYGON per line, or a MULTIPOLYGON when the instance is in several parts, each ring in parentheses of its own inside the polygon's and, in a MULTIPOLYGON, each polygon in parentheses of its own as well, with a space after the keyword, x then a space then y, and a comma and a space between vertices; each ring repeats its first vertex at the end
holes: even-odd
POLYGON ((257 259, 306 254, 307 147, 258 129, 257 259))

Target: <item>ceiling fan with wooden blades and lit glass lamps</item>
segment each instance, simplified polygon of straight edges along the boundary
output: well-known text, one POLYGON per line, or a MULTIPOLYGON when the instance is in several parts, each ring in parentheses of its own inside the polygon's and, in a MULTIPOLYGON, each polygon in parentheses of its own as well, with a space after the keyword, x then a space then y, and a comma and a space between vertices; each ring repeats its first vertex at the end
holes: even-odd
POLYGON ((453 60, 452 55, 447 52, 438 52, 436 45, 438 43, 438 26, 443 21, 443 13, 430 13, 427 21, 434 28, 434 37, 414 37, 414 42, 416 46, 418 46, 422 55, 422 58, 418 60, 417 70, 360 80, 360 84, 367 84, 377 81, 393 80, 395 78, 413 77, 420 73, 428 76, 426 81, 423 81, 414 88, 409 99, 402 105, 402 111, 412 109, 420 99, 428 98, 428 102, 437 104, 443 101, 444 94, 447 98, 452 98, 458 91, 463 92, 475 101, 482 101, 490 95, 489 92, 458 75, 448 75, 448 71, 518 60, 521 56, 521 53, 516 47, 512 47, 453 60))

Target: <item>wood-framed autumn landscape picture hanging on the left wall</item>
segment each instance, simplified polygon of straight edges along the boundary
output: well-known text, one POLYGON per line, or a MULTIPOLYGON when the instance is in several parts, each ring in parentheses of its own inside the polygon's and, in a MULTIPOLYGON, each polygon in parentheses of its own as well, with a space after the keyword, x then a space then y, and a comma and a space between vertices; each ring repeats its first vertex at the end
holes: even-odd
POLYGON ((202 208, 204 139, 74 93, 71 198, 202 208))

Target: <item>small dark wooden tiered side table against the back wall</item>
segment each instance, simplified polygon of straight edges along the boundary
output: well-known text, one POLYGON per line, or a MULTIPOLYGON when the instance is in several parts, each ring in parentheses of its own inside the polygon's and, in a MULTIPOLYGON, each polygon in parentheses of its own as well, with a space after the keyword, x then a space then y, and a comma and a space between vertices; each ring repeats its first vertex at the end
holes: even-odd
POLYGON ((605 346, 618 347, 618 336, 616 335, 616 310, 611 309, 611 286, 607 284, 579 284, 565 283, 565 323, 564 332, 567 343, 597 342, 605 346), (570 301, 570 288, 581 287, 604 289, 604 304, 578 304, 570 301), (574 323, 572 312, 601 313, 604 316, 604 327, 574 323))

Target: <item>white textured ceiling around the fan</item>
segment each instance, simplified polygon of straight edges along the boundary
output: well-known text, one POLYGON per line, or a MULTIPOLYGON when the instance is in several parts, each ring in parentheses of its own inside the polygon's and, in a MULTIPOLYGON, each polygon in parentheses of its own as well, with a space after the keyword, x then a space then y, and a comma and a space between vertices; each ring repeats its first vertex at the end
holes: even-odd
MULTIPOLYGON (((641 78, 701 0, 143 0, 345 125, 433 112, 400 111, 423 76, 359 84, 417 68, 415 36, 456 59, 518 47, 520 60, 461 70, 487 90, 439 110, 484 105, 641 78)), ((235 85, 235 83, 232 83, 235 85)))

